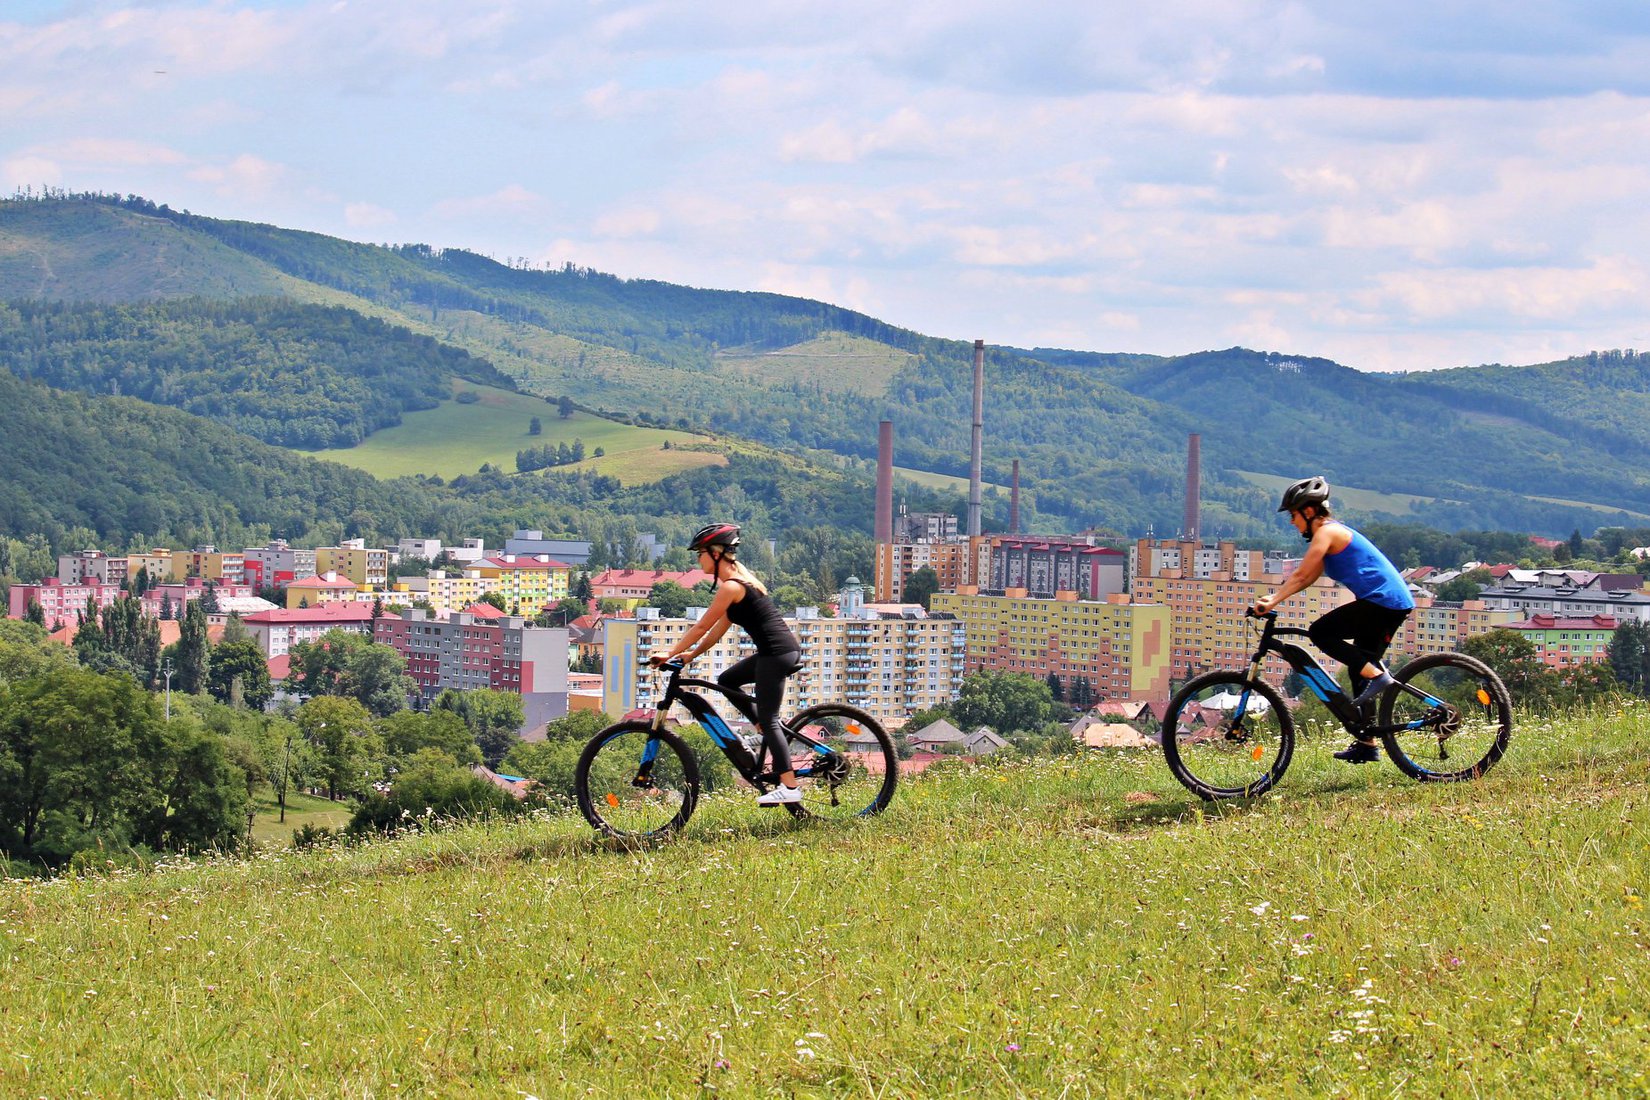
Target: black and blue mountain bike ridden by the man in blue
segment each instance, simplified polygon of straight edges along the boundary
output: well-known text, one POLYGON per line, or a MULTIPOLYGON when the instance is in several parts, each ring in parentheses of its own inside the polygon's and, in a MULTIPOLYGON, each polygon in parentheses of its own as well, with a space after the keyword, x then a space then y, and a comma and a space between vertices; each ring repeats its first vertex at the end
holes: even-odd
POLYGON ((1204 800, 1252 798, 1284 777, 1295 752, 1295 721, 1284 698, 1264 679, 1269 653, 1284 658, 1305 688, 1328 706, 1353 737, 1379 739, 1404 775, 1424 782, 1478 778, 1502 759, 1513 736, 1506 686, 1465 653, 1431 653, 1393 673, 1394 683, 1360 707, 1333 676, 1284 637, 1305 630, 1279 627, 1277 612, 1261 618, 1259 643, 1247 670, 1204 673, 1188 681, 1163 716, 1163 757, 1185 787, 1204 800))

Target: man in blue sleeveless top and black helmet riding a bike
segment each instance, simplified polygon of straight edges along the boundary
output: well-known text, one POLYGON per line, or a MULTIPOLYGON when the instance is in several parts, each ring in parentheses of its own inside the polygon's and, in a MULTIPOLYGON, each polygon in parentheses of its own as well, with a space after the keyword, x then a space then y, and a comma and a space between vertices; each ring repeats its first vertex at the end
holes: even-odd
MULTIPOLYGON (((1323 574, 1351 589, 1356 599, 1322 615, 1307 627, 1307 637, 1325 655, 1346 666, 1355 684, 1353 703, 1363 711, 1394 683, 1381 665, 1381 656, 1414 610, 1416 600, 1374 543, 1330 515, 1330 485, 1323 478, 1302 478, 1285 488, 1277 510, 1289 513, 1289 521, 1310 546, 1282 587, 1254 602, 1254 612, 1264 615, 1323 574)), ((1370 764, 1379 754, 1373 740, 1355 737, 1335 759, 1370 764)))

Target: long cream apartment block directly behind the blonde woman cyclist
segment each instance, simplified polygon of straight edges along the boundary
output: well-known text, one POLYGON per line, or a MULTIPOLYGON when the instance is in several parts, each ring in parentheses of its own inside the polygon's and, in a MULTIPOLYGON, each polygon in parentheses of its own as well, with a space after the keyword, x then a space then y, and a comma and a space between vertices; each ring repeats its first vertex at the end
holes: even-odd
MULTIPOLYGON (((652 675, 647 655, 672 646, 696 620, 696 615, 660 618, 652 607, 637 609, 637 618, 604 618, 602 707, 625 714, 653 706, 663 681, 652 675)), ((817 609, 799 607, 785 622, 802 643, 802 668, 785 681, 787 711, 851 703, 898 729, 911 714, 955 698, 962 686, 962 623, 947 615, 908 607, 825 618, 817 609)), ((754 650, 744 633, 729 630, 695 661, 693 675, 714 679, 749 653, 754 650)), ((738 717, 731 707, 723 707, 723 714, 738 717)))

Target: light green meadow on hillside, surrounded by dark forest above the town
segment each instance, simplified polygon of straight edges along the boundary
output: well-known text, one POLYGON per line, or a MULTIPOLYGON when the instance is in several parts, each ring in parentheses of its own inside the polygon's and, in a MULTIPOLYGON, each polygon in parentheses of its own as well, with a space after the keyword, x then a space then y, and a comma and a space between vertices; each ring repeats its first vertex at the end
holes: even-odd
MULTIPOLYGON (((406 414, 399 425, 373 432, 358 447, 307 454, 342 462, 381 478, 412 473, 450 478, 460 473, 475 473, 487 462, 513 472, 518 450, 544 444, 551 447, 563 442, 573 444, 574 439, 584 440, 586 454, 602 447, 607 455, 614 457, 629 450, 657 452, 665 440, 672 444, 698 440, 688 432, 634 427, 587 412, 574 412, 563 421, 556 406, 543 397, 454 379, 454 393, 464 389, 475 391, 480 401, 475 404, 444 401, 436 409, 406 414), (528 435, 528 425, 535 416, 540 419, 543 434, 528 435)), ((665 473, 673 472, 667 470, 665 473)), ((658 477, 665 477, 665 473, 658 477)))

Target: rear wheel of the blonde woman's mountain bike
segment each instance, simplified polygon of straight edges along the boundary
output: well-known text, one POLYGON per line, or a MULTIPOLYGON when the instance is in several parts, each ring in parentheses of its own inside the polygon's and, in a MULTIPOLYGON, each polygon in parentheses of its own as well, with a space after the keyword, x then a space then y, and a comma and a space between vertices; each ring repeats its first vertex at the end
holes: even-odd
POLYGON ((797 712, 785 732, 802 790, 792 813, 861 818, 888 808, 899 782, 899 757, 874 717, 846 703, 825 703, 797 712))

